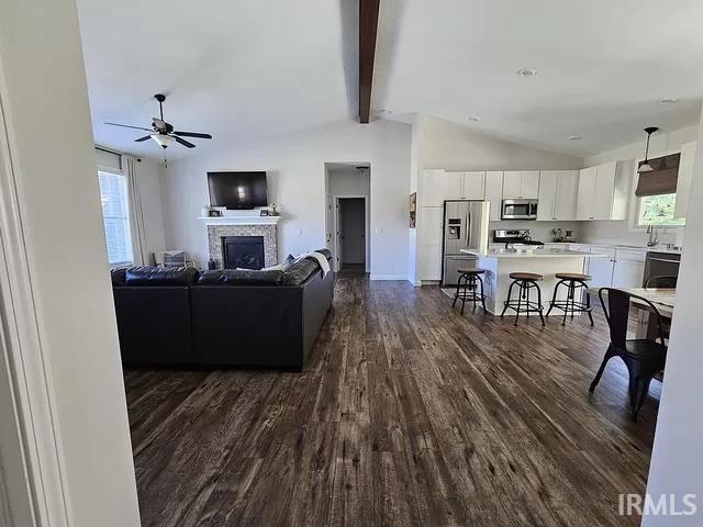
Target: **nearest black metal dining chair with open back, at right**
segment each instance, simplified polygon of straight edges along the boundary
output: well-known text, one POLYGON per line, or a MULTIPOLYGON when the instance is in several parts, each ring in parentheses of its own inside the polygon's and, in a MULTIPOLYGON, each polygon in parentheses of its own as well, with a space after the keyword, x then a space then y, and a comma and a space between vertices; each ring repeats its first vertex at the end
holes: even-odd
POLYGON ((611 344, 605 351, 605 357, 603 357, 603 362, 601 362, 595 379, 591 382, 589 392, 593 393, 595 390, 607 361, 613 357, 620 357, 625 362, 629 374, 631 417, 633 421, 637 421, 637 414, 649 392, 649 383, 657 373, 663 370, 667 360, 667 346, 663 340, 661 315, 649 300, 627 291, 601 288, 598 296, 610 327, 611 344), (604 298, 604 293, 606 298, 604 298), (651 312, 656 314, 659 341, 647 338, 627 339, 627 321, 633 299, 637 299, 638 302, 648 305, 651 312))

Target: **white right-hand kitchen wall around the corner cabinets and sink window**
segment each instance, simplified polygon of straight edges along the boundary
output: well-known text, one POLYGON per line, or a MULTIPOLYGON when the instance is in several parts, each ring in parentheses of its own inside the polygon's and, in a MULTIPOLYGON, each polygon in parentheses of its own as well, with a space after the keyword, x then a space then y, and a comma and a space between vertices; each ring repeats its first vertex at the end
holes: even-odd
MULTIPOLYGON (((685 128, 673 130, 668 133, 658 133, 651 136, 649 144, 650 157, 657 157, 660 154, 669 153, 681 148, 681 145, 695 141, 698 137, 698 126, 688 126, 685 128)), ((643 132, 643 138, 635 143, 613 148, 601 154, 589 156, 584 159, 585 166, 592 167, 603 162, 641 159, 645 155, 645 146, 647 139, 643 132)), ((634 179, 634 165, 633 165, 634 179)), ((633 187, 634 191, 634 187, 633 187)), ((611 221, 611 222, 583 222, 583 238, 601 242, 624 242, 628 244, 644 245, 647 243, 648 235, 645 229, 633 229, 634 211, 631 206, 628 220, 611 221)), ((660 229, 659 239, 661 243, 676 243, 677 236, 682 233, 678 228, 660 229)))

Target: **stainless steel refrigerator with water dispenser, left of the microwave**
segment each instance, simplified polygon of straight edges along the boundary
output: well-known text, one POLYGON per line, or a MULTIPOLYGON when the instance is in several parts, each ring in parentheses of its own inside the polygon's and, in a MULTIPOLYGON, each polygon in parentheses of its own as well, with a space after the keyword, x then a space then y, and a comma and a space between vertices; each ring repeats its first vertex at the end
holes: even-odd
POLYGON ((445 201, 442 244, 442 285, 456 285, 460 268, 476 267, 476 256, 461 249, 487 250, 488 201, 445 201))

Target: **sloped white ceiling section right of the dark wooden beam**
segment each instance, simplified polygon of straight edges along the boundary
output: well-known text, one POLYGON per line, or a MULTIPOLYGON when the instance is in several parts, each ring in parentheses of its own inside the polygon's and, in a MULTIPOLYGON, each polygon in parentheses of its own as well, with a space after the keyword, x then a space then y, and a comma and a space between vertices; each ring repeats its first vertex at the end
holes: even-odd
POLYGON ((372 100, 393 114, 426 113, 581 156, 637 141, 645 126, 699 120, 700 0, 381 4, 372 100), (538 72, 522 78, 521 68, 538 72), (665 106, 663 98, 680 102, 665 106))

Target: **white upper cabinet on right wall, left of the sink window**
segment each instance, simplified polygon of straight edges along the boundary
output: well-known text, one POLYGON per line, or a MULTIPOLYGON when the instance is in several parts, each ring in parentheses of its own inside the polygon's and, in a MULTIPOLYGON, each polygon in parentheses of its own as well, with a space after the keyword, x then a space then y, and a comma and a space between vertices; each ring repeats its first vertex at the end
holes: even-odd
POLYGON ((625 220, 632 173, 627 164, 606 162, 579 171, 577 220, 625 220))

